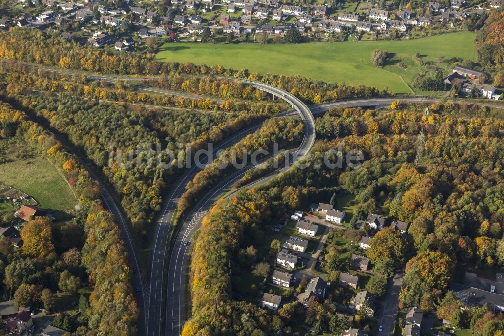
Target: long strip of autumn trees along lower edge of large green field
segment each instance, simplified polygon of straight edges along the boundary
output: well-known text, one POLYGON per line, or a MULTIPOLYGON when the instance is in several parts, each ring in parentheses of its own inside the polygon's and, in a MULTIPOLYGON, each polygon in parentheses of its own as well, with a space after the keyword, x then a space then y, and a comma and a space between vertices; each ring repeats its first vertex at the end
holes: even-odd
MULTIPOLYGON (((225 69, 221 65, 194 65, 192 63, 159 62, 152 54, 119 53, 115 50, 96 49, 93 46, 82 46, 77 42, 54 35, 44 35, 38 29, 10 28, 0 32, 0 58, 30 63, 56 66, 64 69, 93 71, 121 75, 161 75, 162 87, 180 88, 186 91, 202 93, 212 92, 212 87, 196 86, 192 76, 230 76, 249 78, 285 89, 308 103, 321 103, 336 99, 371 97, 380 94, 375 87, 347 86, 345 84, 325 83, 303 77, 290 77, 274 74, 249 73, 247 69, 225 69), (42 51, 43 50, 43 51, 42 51), (187 77, 189 76, 189 77, 187 77), (179 84, 179 79, 184 79, 179 84), (173 82, 174 83, 170 83, 173 82)), ((227 85, 227 84, 226 84, 227 85)), ((247 96, 243 88, 242 96, 247 96)), ((215 91, 228 97, 226 92, 215 91)), ((260 95, 258 92, 254 94, 260 95)), ((384 92, 388 94, 388 92, 384 92)), ((231 94, 238 97, 239 94, 231 94)))

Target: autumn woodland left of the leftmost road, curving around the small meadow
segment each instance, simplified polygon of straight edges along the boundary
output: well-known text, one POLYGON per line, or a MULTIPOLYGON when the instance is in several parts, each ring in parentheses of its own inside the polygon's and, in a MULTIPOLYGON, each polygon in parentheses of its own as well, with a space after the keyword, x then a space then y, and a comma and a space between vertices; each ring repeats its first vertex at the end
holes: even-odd
POLYGON ((0 134, 13 144, 26 141, 56 165, 80 205, 76 220, 65 226, 47 217, 29 221, 21 230, 21 249, 1 240, 2 280, 16 304, 51 311, 56 292, 76 293, 84 282, 91 293, 80 296, 79 320, 58 316, 58 325, 75 335, 135 335, 139 311, 127 252, 113 216, 103 209, 96 181, 51 133, 7 103, 0 104, 0 134))

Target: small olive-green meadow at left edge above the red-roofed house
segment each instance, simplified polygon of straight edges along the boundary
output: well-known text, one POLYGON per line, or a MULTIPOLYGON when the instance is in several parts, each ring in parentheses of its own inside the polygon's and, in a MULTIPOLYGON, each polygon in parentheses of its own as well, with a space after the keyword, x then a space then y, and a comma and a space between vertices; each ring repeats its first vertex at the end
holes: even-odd
POLYGON ((67 182, 42 157, 0 164, 0 183, 30 195, 44 209, 68 210, 77 203, 67 182))

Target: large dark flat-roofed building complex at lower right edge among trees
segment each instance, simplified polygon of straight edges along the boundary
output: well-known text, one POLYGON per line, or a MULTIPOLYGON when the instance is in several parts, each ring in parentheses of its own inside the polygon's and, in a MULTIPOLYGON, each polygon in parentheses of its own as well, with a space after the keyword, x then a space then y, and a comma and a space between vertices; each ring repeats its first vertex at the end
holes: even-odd
POLYGON ((504 312, 504 273, 490 280, 466 272, 464 284, 452 283, 450 290, 466 307, 487 305, 492 312, 504 312))

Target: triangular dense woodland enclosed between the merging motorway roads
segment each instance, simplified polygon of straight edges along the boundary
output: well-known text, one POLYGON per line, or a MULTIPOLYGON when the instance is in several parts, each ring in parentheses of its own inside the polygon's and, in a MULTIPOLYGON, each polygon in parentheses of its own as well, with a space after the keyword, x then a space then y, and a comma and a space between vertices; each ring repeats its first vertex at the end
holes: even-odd
POLYGON ((140 106, 76 100, 66 94, 58 97, 11 94, 5 99, 66 136, 103 170, 143 238, 147 223, 159 210, 163 191, 185 167, 186 151, 206 148, 207 143, 219 142, 261 118, 255 114, 147 110, 140 106), (160 152, 156 152, 156 144, 160 145, 160 152), (130 150, 134 155, 128 162, 130 150), (172 166, 160 169, 158 159, 171 162, 172 166))

